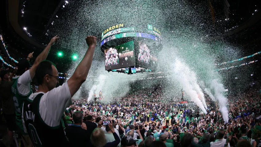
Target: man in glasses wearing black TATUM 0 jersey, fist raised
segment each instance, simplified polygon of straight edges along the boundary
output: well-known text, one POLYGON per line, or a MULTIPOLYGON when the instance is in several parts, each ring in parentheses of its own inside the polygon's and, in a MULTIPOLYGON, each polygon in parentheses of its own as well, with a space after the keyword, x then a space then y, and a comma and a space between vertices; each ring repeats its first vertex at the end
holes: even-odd
POLYGON ((86 80, 91 67, 96 37, 88 36, 85 40, 88 50, 72 77, 63 85, 55 88, 59 75, 52 62, 42 61, 35 70, 38 91, 28 97, 22 111, 24 129, 34 146, 68 145, 60 119, 64 110, 72 104, 72 96, 86 80))

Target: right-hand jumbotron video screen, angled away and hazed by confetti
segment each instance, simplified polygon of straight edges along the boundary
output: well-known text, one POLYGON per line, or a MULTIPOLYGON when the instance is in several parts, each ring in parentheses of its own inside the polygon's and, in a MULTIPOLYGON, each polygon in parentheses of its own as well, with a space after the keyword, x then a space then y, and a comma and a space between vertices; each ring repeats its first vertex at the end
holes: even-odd
POLYGON ((158 59, 153 55, 149 46, 144 42, 138 42, 138 50, 137 66, 150 68, 156 65, 158 59))

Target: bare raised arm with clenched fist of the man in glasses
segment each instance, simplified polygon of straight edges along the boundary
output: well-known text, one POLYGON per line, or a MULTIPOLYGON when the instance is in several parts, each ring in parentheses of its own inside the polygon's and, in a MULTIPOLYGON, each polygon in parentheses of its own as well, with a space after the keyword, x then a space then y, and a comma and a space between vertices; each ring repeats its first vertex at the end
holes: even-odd
POLYGON ((76 67, 72 77, 67 81, 71 96, 73 96, 78 91, 82 83, 86 80, 92 64, 93 53, 96 46, 96 37, 88 36, 85 38, 85 40, 88 45, 88 50, 85 53, 82 61, 76 67))

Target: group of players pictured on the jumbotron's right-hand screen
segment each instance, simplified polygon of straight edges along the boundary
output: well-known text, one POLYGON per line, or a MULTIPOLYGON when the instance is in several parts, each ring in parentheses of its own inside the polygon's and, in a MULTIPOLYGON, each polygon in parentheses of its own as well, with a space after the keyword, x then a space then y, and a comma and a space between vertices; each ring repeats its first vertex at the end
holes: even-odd
POLYGON ((138 61, 143 62, 146 64, 150 63, 150 49, 148 46, 143 43, 139 42, 139 55, 138 55, 138 61))

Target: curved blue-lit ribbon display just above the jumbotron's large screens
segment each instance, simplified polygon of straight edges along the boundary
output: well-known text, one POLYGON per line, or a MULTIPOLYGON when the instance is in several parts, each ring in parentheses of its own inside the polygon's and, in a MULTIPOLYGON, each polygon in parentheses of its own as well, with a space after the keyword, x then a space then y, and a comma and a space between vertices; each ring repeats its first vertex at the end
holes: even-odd
POLYGON ((124 38, 124 37, 142 37, 142 38, 149 38, 155 41, 160 41, 161 39, 151 35, 151 34, 146 34, 146 33, 139 33, 139 32, 128 32, 128 33, 121 33, 121 34, 115 34, 112 36, 109 36, 107 38, 105 38, 102 42, 101 42, 101 46, 106 43, 109 42, 113 39, 118 39, 118 38, 124 38))

